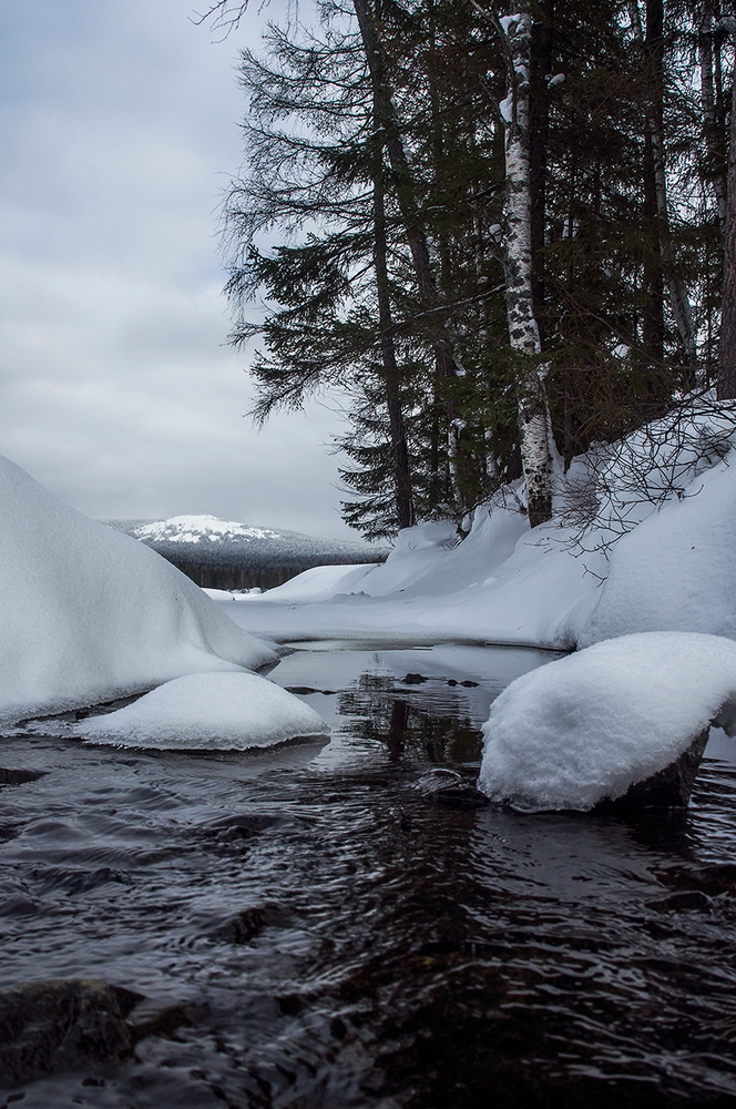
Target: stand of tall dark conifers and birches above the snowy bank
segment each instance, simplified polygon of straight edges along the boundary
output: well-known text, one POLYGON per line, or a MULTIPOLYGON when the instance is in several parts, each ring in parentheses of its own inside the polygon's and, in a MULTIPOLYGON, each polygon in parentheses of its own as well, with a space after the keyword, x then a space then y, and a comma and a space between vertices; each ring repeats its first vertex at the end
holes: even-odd
POLYGON ((309 16, 242 55, 227 292, 233 342, 260 338, 257 418, 327 386, 349 398, 350 525, 378 538, 450 515, 462 531, 523 475, 534 526, 556 452, 566 467, 693 390, 736 396, 729 10, 309 16))

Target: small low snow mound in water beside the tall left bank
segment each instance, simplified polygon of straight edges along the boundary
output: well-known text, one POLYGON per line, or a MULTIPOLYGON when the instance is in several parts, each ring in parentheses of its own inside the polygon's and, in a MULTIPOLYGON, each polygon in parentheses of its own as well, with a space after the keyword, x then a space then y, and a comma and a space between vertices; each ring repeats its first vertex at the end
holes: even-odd
POLYGON ((328 728, 314 709, 267 679, 225 673, 176 678, 73 731, 124 747, 244 751, 325 735, 328 728))

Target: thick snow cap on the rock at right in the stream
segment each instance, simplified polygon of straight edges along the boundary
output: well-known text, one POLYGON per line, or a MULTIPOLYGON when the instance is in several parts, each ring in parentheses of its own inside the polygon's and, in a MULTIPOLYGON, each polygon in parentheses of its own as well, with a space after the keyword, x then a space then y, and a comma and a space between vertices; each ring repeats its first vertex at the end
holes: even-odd
POLYGON ((664 770, 712 721, 736 732, 736 643, 696 632, 606 640, 501 693, 478 785, 519 808, 586 811, 664 770))

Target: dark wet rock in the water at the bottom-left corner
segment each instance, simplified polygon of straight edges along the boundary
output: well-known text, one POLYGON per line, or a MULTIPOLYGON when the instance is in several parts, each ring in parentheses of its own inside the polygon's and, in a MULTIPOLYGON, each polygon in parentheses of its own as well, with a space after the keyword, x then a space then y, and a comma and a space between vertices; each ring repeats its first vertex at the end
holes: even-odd
POLYGON ((0 1082, 116 1062, 132 1049, 125 1017, 142 999, 95 978, 30 981, 0 991, 0 1082))

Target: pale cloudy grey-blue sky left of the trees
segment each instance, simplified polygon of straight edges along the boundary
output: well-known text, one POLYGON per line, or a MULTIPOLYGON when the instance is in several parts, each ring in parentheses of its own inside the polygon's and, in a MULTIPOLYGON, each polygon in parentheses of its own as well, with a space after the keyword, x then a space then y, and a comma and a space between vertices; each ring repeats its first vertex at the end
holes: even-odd
POLYGON ((217 41, 196 11, 0 0, 0 452, 98 519, 357 539, 337 403, 247 417, 217 226, 243 163, 237 53, 263 16, 217 41))

